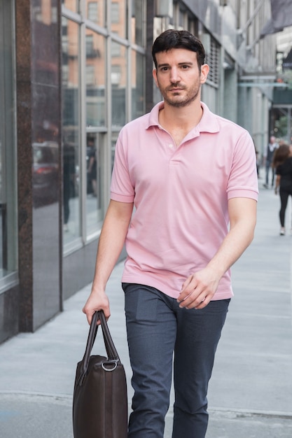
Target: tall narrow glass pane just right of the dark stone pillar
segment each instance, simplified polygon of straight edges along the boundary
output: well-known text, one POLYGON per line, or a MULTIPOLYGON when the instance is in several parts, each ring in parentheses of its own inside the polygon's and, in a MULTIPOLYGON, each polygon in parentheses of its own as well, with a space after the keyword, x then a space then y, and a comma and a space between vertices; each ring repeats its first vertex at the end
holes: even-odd
POLYGON ((78 24, 62 20, 64 245, 81 235, 78 24))

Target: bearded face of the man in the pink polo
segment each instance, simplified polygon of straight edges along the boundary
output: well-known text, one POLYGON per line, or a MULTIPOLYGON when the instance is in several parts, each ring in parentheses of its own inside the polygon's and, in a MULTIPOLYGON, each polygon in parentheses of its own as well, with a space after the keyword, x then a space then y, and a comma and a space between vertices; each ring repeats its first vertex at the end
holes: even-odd
POLYGON ((167 104, 177 108, 200 99, 202 83, 207 79, 209 66, 197 65, 197 53, 186 49, 172 49, 156 54, 157 69, 153 78, 167 104))

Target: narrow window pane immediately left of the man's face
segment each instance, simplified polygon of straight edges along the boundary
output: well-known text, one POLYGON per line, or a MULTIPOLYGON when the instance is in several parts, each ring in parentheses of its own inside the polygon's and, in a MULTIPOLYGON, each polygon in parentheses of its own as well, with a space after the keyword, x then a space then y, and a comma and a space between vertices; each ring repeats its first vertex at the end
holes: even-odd
POLYGON ((144 115, 144 56, 132 50, 132 118, 144 115))

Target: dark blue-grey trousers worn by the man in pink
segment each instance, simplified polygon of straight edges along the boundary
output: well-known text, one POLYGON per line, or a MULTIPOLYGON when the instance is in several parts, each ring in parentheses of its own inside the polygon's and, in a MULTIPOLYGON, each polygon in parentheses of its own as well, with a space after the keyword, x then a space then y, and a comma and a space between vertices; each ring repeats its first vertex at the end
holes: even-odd
POLYGON ((230 299, 188 310, 146 285, 123 283, 123 290, 134 388, 128 438, 163 438, 173 357, 172 438, 204 438, 207 388, 230 299))

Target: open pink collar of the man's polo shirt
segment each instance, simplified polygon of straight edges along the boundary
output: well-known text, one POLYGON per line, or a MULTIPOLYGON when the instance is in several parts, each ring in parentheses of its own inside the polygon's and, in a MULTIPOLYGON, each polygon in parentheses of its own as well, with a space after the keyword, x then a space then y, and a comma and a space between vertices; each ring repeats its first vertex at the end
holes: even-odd
MULTIPOLYGON (((148 125, 146 126, 146 129, 151 126, 159 126, 158 114, 163 106, 163 101, 153 106, 151 112, 149 113, 148 125)), ((211 113, 208 106, 203 102, 201 102, 201 106, 203 108, 203 115, 199 124, 194 129, 196 129, 198 132, 218 132, 220 129, 216 115, 211 113)))

